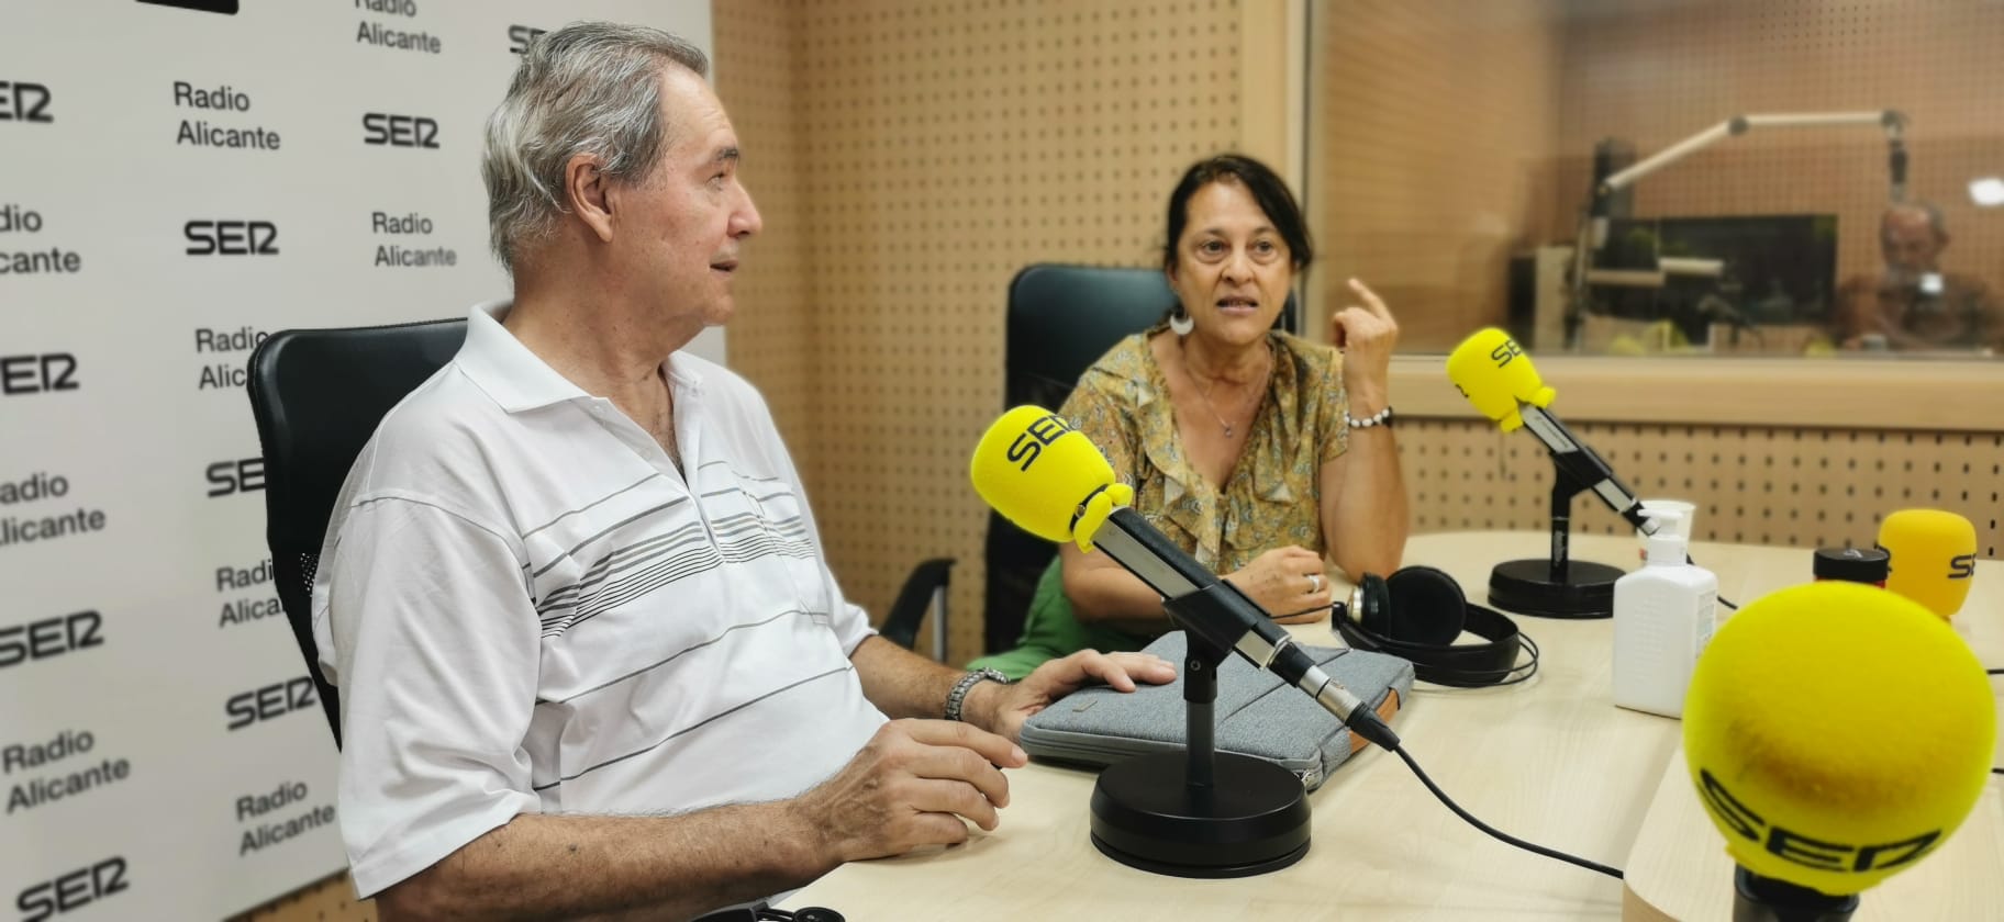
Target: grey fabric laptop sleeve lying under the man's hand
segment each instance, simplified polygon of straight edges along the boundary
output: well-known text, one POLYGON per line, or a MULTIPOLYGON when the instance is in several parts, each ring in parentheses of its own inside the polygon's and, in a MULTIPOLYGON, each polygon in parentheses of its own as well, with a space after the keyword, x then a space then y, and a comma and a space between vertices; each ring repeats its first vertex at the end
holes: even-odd
MULTIPOLYGON (((1184 742, 1182 706, 1182 632, 1170 632, 1148 644, 1176 666, 1176 680, 1166 686, 1140 686, 1116 692, 1106 686, 1080 688, 1022 724, 1022 750, 1060 762, 1108 766, 1148 752, 1180 750, 1184 742)), ((1397 656, 1363 650, 1303 646, 1329 672, 1349 686, 1371 710, 1385 704, 1393 692, 1399 704, 1411 700, 1413 664, 1397 656)), ((1351 758, 1351 730, 1323 710, 1299 688, 1285 684, 1273 672, 1228 656, 1218 668, 1218 700, 1214 706, 1218 752, 1242 752, 1281 764, 1301 778, 1309 790, 1323 786, 1351 758)))

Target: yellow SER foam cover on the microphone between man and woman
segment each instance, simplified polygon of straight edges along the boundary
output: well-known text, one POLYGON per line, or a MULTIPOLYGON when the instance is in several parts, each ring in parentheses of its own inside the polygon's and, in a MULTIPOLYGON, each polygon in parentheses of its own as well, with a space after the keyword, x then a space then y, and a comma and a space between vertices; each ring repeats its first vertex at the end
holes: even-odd
POLYGON ((1098 446, 1042 406, 1018 406, 988 426, 968 476, 1002 518, 1078 550, 1092 550, 1106 516, 1134 502, 1134 488, 1114 480, 1098 446))

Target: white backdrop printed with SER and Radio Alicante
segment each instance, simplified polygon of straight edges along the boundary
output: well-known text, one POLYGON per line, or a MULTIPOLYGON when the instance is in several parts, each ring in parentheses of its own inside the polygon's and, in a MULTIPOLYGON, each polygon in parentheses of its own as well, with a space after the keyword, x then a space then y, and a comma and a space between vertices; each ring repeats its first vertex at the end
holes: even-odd
POLYGON ((0 0, 0 918, 343 868, 242 372, 507 294, 481 124, 579 18, 711 46, 705 0, 0 0))

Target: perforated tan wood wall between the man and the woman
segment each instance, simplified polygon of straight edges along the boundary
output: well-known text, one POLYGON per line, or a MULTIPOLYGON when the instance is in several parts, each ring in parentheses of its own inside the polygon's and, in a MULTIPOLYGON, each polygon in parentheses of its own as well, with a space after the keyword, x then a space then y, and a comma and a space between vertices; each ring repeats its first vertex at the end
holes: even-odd
POLYGON ((715 10, 717 88, 768 232, 756 284, 739 282, 731 364, 812 458, 844 590, 882 616, 912 564, 958 558, 950 656, 972 658, 986 510, 966 456, 1002 410, 1008 280, 1032 262, 1156 262, 1176 176, 1240 138, 1240 8, 715 10), (782 226, 802 246, 768 246, 782 226))

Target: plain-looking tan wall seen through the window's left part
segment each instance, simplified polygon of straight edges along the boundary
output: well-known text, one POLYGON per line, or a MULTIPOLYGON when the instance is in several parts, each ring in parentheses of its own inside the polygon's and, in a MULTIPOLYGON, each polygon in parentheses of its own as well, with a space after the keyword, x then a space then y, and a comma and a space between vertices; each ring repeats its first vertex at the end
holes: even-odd
POLYGON ((1555 0, 1313 4, 1307 196, 1319 314, 1371 284, 1401 344, 1445 350, 1505 314, 1509 254, 1549 236, 1555 0))

